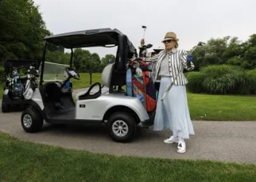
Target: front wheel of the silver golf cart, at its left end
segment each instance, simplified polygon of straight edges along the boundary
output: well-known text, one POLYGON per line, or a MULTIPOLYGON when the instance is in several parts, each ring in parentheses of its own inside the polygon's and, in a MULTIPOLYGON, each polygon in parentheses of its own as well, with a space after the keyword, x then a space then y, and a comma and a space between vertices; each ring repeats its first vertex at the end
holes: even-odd
POLYGON ((44 119, 35 108, 27 108, 21 115, 21 126, 28 133, 35 133, 43 127, 44 119))

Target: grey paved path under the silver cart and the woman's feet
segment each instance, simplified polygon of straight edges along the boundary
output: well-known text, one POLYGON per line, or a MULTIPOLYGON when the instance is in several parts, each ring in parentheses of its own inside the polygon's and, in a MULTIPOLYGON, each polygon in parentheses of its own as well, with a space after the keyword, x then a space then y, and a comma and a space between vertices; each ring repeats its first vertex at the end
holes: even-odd
MULTIPOLYGON (((75 94, 80 91, 76 90, 75 94)), ((0 131, 21 140, 101 154, 138 157, 203 159, 256 164, 256 122, 193 121, 196 135, 186 141, 187 152, 176 153, 176 144, 162 142, 169 131, 141 129, 134 142, 113 142, 105 126, 52 126, 28 134, 21 127, 21 112, 0 112, 0 131)))

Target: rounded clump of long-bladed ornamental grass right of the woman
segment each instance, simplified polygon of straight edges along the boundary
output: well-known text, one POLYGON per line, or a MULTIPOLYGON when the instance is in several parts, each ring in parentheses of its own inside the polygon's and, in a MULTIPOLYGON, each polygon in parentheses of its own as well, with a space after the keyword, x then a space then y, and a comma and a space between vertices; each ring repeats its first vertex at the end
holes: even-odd
POLYGON ((240 95, 256 93, 256 70, 248 71, 231 65, 214 65, 186 75, 187 88, 192 93, 240 95))

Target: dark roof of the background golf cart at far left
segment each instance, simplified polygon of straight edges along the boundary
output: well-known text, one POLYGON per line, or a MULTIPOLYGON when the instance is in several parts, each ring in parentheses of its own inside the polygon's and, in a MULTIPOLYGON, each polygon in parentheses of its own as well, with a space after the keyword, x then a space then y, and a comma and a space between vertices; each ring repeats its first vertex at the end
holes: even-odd
POLYGON ((5 70, 10 71, 14 67, 29 67, 37 66, 37 61, 35 60, 21 60, 21 59, 8 59, 5 63, 5 70))

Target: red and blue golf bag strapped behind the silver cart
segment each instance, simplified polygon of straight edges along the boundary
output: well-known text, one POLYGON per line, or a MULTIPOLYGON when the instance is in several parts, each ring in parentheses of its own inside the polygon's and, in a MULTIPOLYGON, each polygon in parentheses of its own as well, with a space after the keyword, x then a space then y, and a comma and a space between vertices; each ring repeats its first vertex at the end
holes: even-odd
POLYGON ((157 108, 157 94, 153 86, 149 64, 142 61, 142 59, 135 59, 130 62, 130 69, 133 97, 142 101, 147 112, 153 112, 157 108))

